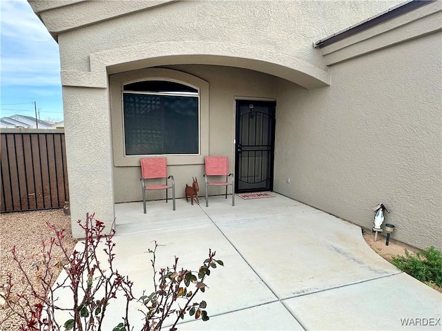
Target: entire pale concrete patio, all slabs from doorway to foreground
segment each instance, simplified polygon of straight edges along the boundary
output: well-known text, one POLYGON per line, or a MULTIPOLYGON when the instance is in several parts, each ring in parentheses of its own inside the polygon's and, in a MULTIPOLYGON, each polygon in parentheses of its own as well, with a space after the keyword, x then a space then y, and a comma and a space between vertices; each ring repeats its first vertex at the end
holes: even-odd
MULTIPOLYGON (((196 270, 216 250, 224 267, 195 298, 207 301, 210 320, 186 316, 179 330, 442 330, 442 295, 379 257, 361 228, 273 195, 238 197, 235 207, 224 197, 210 197, 208 208, 204 198, 177 199, 175 211, 171 201, 148 201, 147 214, 142 203, 116 204, 118 269, 137 297, 153 290, 152 241, 165 245, 157 267, 177 255, 196 270)), ((122 314, 111 306, 109 327, 122 314)))

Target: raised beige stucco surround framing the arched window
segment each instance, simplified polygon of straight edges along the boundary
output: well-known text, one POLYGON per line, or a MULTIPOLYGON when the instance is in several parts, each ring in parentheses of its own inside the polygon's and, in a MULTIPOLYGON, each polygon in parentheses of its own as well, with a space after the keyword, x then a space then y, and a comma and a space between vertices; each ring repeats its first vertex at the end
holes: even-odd
MULTIPOLYGON (((128 91, 126 91, 128 92, 128 91)), ((111 110, 111 135, 115 166, 140 166, 140 157, 167 157, 169 165, 203 164, 209 154, 209 83, 192 74, 166 68, 146 68, 109 75, 109 101, 111 110), (124 85, 137 81, 171 81, 198 90, 199 94, 199 153, 198 154, 147 154, 126 155, 124 141, 124 85)))

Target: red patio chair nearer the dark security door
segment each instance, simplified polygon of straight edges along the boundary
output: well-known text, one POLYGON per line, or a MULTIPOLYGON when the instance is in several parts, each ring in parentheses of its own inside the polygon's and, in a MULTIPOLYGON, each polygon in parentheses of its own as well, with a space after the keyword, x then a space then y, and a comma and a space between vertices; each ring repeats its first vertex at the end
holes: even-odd
POLYGON ((204 173, 204 182, 206 185, 206 207, 209 207, 209 196, 207 194, 208 186, 225 186, 226 187, 226 199, 227 199, 227 187, 232 186, 232 205, 235 205, 235 175, 229 174, 229 158, 228 157, 205 157, 204 163, 206 165, 206 171, 204 173), (225 181, 209 181, 209 177, 222 176, 226 178, 225 181), (229 183, 229 177, 231 182, 229 183))

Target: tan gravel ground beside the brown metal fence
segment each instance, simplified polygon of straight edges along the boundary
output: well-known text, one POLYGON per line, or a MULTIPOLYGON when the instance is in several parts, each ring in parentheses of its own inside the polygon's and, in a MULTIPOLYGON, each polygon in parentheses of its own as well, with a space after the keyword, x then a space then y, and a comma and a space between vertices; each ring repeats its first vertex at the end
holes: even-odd
MULTIPOLYGON (((16 245, 17 254, 25 259, 26 271, 30 274, 35 273, 32 263, 40 259, 41 241, 54 237, 54 232, 48 228, 46 222, 55 225, 57 230, 66 229, 64 247, 68 252, 72 252, 77 241, 72 238, 70 232, 70 217, 66 217, 62 209, 10 212, 0 215, 0 288, 6 283, 4 275, 10 272, 16 290, 25 289, 25 285, 21 283, 22 274, 12 259, 11 249, 16 245)), ((55 250, 52 256, 61 257, 61 250, 55 250)), ((58 273, 58 270, 55 272, 58 273)), ((10 315, 10 310, 3 303, 0 302, 0 330, 19 330, 19 319, 15 315, 6 319, 10 315)))

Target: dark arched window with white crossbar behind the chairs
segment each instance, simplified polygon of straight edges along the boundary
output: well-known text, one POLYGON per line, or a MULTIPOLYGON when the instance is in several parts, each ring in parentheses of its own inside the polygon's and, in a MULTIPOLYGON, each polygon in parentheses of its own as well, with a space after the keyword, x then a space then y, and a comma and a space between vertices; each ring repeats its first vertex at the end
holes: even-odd
POLYGON ((200 93, 174 81, 123 87, 125 155, 199 154, 200 93))

